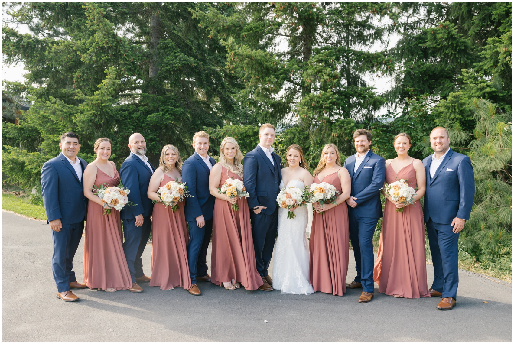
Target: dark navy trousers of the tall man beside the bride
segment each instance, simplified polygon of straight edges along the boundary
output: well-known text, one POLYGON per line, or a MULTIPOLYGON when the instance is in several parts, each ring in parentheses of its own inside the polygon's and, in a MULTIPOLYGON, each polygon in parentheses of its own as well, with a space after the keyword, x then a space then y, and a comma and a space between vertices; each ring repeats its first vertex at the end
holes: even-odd
POLYGON ((273 255, 275 239, 277 239, 278 219, 278 208, 271 214, 265 214, 262 211, 255 214, 253 210, 250 210, 255 261, 257 271, 261 277, 269 275, 268 267, 273 255))

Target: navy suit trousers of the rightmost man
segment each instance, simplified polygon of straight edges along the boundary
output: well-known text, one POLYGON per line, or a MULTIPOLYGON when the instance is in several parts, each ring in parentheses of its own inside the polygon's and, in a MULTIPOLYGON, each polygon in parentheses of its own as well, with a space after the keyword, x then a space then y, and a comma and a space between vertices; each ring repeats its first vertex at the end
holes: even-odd
POLYGON ((458 287, 458 234, 450 224, 427 222, 428 243, 434 264, 432 289, 443 297, 457 299, 458 287))

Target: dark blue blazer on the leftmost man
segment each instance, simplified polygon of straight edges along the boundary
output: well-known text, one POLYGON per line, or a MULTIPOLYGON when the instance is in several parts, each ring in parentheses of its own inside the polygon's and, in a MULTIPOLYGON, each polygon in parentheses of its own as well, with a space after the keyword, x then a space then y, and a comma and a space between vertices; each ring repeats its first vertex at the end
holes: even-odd
POLYGON ((82 181, 87 162, 77 159, 82 167, 81 180, 63 153, 45 162, 41 169, 41 193, 48 222, 61 219, 61 224, 69 225, 86 218, 87 198, 82 181))

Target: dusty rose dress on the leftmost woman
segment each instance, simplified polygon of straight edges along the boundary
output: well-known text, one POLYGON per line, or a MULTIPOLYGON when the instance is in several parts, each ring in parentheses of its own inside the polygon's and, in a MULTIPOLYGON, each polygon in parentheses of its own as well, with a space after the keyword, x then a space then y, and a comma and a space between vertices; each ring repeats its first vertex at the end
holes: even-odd
MULTIPOLYGON (((118 186, 120 175, 114 178, 97 168, 95 185, 118 186)), ((112 209, 103 215, 103 207, 93 201, 87 204, 84 239, 84 282, 89 288, 128 289, 132 278, 121 244, 120 212, 112 209)))

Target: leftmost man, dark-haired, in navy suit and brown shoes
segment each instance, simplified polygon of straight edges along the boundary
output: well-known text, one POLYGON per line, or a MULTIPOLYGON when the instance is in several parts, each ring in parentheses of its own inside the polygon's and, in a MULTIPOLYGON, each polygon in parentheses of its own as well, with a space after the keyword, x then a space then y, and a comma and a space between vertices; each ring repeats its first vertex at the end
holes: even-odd
POLYGON ((41 169, 41 190, 47 223, 52 229, 52 273, 57 297, 71 302, 79 299, 71 289, 86 287, 85 283, 77 282, 72 269, 86 218, 82 174, 87 162, 77 157, 80 151, 77 134, 61 135, 59 148, 59 156, 45 162, 41 169))

